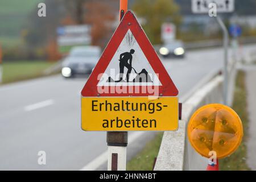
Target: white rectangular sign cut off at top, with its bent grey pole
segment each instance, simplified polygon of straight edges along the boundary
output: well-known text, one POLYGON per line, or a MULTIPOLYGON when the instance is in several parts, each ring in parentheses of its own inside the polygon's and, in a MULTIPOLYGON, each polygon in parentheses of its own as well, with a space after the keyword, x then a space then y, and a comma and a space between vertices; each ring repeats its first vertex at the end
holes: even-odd
POLYGON ((212 3, 216 5, 216 20, 221 27, 223 32, 223 47, 224 47, 224 104, 228 104, 228 44, 229 44, 229 33, 225 24, 223 23, 218 13, 232 13, 235 9, 234 0, 191 0, 192 13, 195 14, 208 14, 212 8, 212 3))

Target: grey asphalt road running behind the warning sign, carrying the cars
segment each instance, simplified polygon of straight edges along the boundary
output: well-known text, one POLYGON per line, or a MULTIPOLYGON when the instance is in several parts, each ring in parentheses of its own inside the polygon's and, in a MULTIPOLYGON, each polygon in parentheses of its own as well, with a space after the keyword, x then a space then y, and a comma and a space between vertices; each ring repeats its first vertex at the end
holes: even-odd
MULTIPOLYGON (((251 49, 245 46, 243 53, 251 49)), ((163 64, 184 97, 222 67, 222 49, 190 51, 185 59, 166 59, 163 64)), ((107 150, 105 132, 80 128, 80 91, 86 80, 58 75, 0 87, 1 170, 79 170, 107 150), (46 151, 46 165, 38 164, 39 151, 46 151)), ((141 136, 133 145, 143 146, 148 139, 141 136)), ((128 158, 139 149, 128 147, 128 158)))

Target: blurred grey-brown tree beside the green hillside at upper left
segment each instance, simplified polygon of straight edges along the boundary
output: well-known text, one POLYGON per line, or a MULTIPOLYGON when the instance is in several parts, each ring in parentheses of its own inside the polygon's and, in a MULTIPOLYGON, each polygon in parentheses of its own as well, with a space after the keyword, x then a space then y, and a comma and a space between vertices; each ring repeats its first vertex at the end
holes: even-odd
POLYGON ((60 55, 57 52, 56 28, 67 13, 63 7, 63 0, 45 0, 44 3, 47 16, 37 16, 36 6, 28 17, 23 39, 26 41, 27 49, 35 56, 37 52, 43 52, 44 57, 49 60, 57 60, 60 55))

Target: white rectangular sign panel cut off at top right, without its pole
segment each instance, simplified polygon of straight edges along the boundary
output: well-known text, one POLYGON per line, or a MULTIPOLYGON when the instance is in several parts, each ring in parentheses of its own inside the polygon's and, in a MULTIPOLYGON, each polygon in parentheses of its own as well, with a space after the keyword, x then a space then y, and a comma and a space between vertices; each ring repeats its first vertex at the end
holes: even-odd
POLYGON ((216 3, 217 13, 234 11, 234 0, 192 0, 192 13, 209 13, 209 3, 216 3))

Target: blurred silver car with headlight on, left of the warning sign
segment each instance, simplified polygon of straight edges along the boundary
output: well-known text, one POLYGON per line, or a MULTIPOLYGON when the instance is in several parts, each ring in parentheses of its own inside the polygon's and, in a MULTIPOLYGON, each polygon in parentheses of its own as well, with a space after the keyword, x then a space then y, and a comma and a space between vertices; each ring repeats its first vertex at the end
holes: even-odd
POLYGON ((100 54, 101 49, 97 46, 73 47, 62 63, 61 75, 68 78, 91 73, 100 54))

